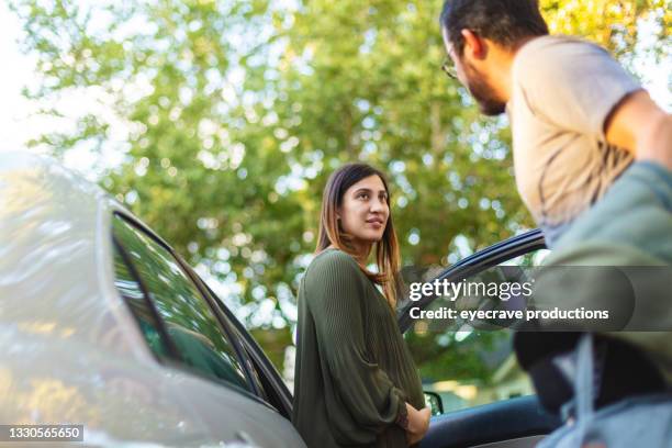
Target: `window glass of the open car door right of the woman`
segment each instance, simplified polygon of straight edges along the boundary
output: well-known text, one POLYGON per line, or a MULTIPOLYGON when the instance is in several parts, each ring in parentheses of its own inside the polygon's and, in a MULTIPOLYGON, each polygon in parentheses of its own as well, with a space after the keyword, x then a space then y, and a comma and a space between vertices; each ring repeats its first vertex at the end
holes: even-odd
MULTIPOLYGON (((466 283, 524 282, 525 267, 537 266, 548 254, 538 249, 464 279, 466 283)), ((493 300, 492 306, 514 299, 493 300)), ((425 310, 478 306, 482 298, 439 296, 425 310), (456 305, 458 304, 459 305, 456 305)), ((486 305, 490 306, 490 305, 486 305)), ((404 337, 423 379, 423 389, 441 397, 444 413, 534 393, 518 367, 513 332, 503 322, 482 322, 477 328, 459 320, 414 318, 404 337)))

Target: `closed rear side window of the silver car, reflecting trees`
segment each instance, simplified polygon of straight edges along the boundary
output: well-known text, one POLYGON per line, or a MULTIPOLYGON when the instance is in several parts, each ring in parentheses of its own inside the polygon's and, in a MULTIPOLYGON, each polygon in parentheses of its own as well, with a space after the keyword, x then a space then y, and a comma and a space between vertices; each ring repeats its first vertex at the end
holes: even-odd
MULTIPOLYGON (((200 374, 254 392, 234 346, 213 311, 170 251, 119 215, 114 217, 113 232, 149 294, 180 361, 200 374)), ((122 279, 117 283, 125 288, 120 289, 124 294, 130 283, 123 281, 123 272, 117 272, 117 279, 122 279)), ((137 294, 138 290, 133 293, 137 294)), ((142 322, 138 307, 131 306, 131 311, 142 322)), ((157 346, 148 337, 152 333, 143 328, 143 334, 156 355, 165 354, 165 347, 157 346)))

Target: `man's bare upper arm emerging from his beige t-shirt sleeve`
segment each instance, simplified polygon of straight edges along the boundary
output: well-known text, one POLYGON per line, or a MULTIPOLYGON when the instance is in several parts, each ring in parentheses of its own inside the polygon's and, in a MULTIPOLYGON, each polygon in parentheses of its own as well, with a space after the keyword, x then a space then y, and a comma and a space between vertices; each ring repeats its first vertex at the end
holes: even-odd
POLYGON ((637 160, 657 161, 672 170, 672 115, 645 90, 625 97, 604 130, 609 144, 629 150, 637 160))

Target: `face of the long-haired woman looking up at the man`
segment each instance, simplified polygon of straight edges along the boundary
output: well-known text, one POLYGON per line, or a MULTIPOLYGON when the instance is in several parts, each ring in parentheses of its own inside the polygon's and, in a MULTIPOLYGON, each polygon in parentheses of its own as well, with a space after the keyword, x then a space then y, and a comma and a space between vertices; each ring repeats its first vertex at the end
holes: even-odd
POLYGON ((343 197, 338 216, 340 227, 352 236, 355 245, 379 242, 390 217, 388 191, 380 177, 369 176, 352 184, 343 197))

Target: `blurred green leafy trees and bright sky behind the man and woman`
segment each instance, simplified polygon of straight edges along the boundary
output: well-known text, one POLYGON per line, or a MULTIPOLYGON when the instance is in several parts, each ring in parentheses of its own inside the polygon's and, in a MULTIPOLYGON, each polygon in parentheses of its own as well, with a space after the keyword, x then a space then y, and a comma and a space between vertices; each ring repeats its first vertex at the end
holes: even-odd
MULTIPOLYGON (((669 0, 540 3, 551 33, 606 46, 672 109, 669 0)), ((480 116, 440 70, 440 8, 10 0, 0 4, 0 150, 54 156, 115 195, 291 382, 295 291, 337 166, 389 173, 404 265, 449 266, 533 226, 506 117, 480 116)), ((495 339, 452 335, 423 356, 441 358, 456 400, 525 393, 492 388, 522 381, 495 339)))

